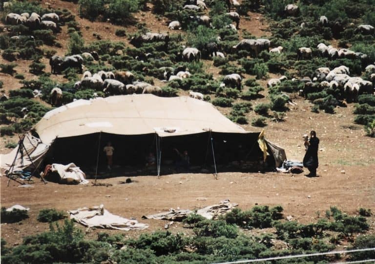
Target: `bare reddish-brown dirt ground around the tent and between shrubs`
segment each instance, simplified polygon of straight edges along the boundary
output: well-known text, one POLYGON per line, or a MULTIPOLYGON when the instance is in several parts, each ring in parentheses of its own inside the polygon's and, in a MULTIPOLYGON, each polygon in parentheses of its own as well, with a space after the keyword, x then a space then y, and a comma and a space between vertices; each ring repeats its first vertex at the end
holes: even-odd
MULTIPOLYGON (((51 0, 49 4, 56 7, 68 8, 77 14, 77 5, 61 0, 51 0)), ((137 15, 138 16, 138 15, 137 15)), ((247 28, 251 34, 261 37, 268 33, 264 31, 267 25, 260 14, 251 13, 250 20, 241 21, 240 27, 247 28)), ((155 17, 139 14, 141 22, 146 22, 155 31, 168 31, 167 27, 155 17), (153 26, 153 23, 155 26, 153 26)), ((127 41, 115 36, 118 26, 109 23, 89 22, 76 16, 82 26, 86 42, 93 41, 93 32, 99 33, 104 39, 112 41, 127 41)), ((135 27, 128 28, 129 33, 135 32, 135 27)), ((63 54, 66 47, 67 35, 63 30, 58 36, 64 47, 58 49, 63 54), (66 37, 66 38, 65 38, 66 37), (65 39, 65 41, 64 41, 65 39)), ((0 62, 2 63, 1 59, 0 62)), ((18 61, 17 72, 27 73, 28 65, 18 61)), ((46 71, 49 65, 46 63, 46 71)), ((206 64, 205 64, 206 65, 206 64)), ((210 65, 208 64, 208 67, 210 65)), ((210 72, 217 72, 211 68, 210 72)), ((272 76, 270 76, 272 77, 272 76)), ((19 88, 18 80, 9 75, 0 75, 4 89, 19 88)), ((265 85, 266 81, 262 84, 265 85)), ((267 95, 267 92, 261 92, 267 95)), ((256 103, 266 101, 257 100, 256 103)), ((302 134, 312 129, 320 138, 319 145, 319 177, 309 178, 304 174, 291 175, 279 173, 220 173, 216 180, 211 174, 175 174, 158 179, 156 176, 134 176, 130 184, 119 184, 126 177, 99 179, 99 183, 110 183, 112 186, 59 185, 56 183, 43 184, 39 179, 31 188, 19 188, 18 183, 8 178, 0 177, 1 206, 9 207, 21 204, 30 207, 30 218, 15 224, 1 223, 1 238, 10 245, 20 243, 26 235, 48 230, 48 224, 36 220, 43 208, 72 210, 84 206, 104 204, 111 213, 125 218, 136 218, 149 224, 144 231, 126 232, 127 236, 138 236, 143 232, 164 229, 162 220, 141 220, 143 215, 158 213, 169 208, 194 209, 215 204, 223 199, 239 204, 242 209, 250 209, 255 204, 282 205, 285 216, 293 216, 300 222, 316 221, 324 217, 330 206, 337 206, 348 214, 355 214, 360 207, 375 211, 375 139, 365 136, 363 127, 354 125, 353 109, 337 108, 335 114, 312 113, 311 104, 300 97, 293 98, 297 106, 291 107, 286 113, 285 122, 268 122, 265 127, 266 137, 272 142, 285 148, 288 159, 302 160, 304 155, 302 134), (207 198, 207 200, 197 200, 207 198)), ((253 103, 255 104, 255 103, 253 103)), ((219 108, 224 114, 229 109, 219 108)), ((255 117, 254 112, 248 114, 248 119, 255 117)), ((243 126, 248 131, 260 131, 251 125, 243 126)), ((4 146, 9 140, 16 138, 0 138, 0 152, 10 150, 4 146)), ((305 171, 305 174, 307 172, 305 171)), ((370 218, 371 230, 375 233, 374 216, 370 218)), ((83 227, 82 227, 83 228, 83 227)), ((172 230, 186 232, 180 223, 172 225, 172 230)), ((84 229, 84 228, 83 228, 84 229)), ((102 230, 99 230, 102 231, 102 230)), ((95 237, 98 230, 91 231, 88 236, 95 237)), ((108 231, 119 232, 119 231, 108 231)))

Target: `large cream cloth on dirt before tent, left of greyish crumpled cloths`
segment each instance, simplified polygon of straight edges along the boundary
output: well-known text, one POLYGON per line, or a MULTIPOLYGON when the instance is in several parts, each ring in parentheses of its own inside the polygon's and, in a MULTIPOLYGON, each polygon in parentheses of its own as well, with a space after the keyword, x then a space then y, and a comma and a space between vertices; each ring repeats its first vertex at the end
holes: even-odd
POLYGON ((129 220, 113 215, 104 209, 104 205, 83 207, 68 211, 70 219, 88 227, 97 227, 117 230, 143 230, 148 228, 147 224, 139 223, 137 220, 129 220))

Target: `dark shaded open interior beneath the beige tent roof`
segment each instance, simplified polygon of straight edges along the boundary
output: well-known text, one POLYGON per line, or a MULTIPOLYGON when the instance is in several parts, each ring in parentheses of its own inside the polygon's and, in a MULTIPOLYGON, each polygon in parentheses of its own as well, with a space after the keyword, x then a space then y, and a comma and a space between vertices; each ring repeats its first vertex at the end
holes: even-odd
MULTIPOLYGON (((188 152, 192 168, 207 168, 213 170, 213 155, 220 172, 226 170, 239 171, 229 164, 236 161, 256 163, 262 160, 263 153, 258 145, 259 132, 253 133, 220 133, 202 132, 197 134, 159 137, 156 133, 142 135, 118 135, 109 133, 93 133, 74 137, 57 138, 52 144, 44 164, 75 163, 77 166, 96 168, 98 160, 99 170, 106 166, 104 146, 108 141, 114 147, 113 165, 117 168, 131 168, 140 170, 145 167, 146 156, 153 153, 157 156, 157 143, 161 156, 161 174, 173 172, 174 165, 180 153, 188 152), (212 137, 212 145, 211 145, 212 137), (160 141, 158 141, 160 140, 160 141), (98 157, 99 155, 99 157, 98 157)), ((272 155, 271 155, 272 156, 272 155)), ((270 162, 268 162, 270 163, 270 162)), ((272 163, 272 161, 271 161, 272 163)), ((271 164, 269 164, 271 165, 271 164)), ((156 166, 155 166, 156 170, 156 166)), ((257 171, 253 168, 253 171, 257 171)), ((252 171, 251 167, 246 171, 252 171)))

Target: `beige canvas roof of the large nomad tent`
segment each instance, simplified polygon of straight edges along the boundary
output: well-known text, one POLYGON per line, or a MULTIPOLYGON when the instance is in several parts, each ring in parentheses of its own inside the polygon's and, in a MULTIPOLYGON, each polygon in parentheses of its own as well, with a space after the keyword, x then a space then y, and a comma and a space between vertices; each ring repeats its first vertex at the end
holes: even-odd
POLYGON ((96 132, 174 136, 207 132, 248 133, 210 103, 187 96, 132 94, 77 100, 47 112, 35 126, 42 142, 96 132))

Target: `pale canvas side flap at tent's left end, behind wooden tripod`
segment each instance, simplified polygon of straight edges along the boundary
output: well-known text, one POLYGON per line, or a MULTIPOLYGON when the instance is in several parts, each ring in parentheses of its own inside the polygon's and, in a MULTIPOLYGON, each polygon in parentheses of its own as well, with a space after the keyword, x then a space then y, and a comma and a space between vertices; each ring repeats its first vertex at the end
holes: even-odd
MULTIPOLYGON (((50 145, 44 144, 41 139, 32 136, 30 133, 25 134, 23 145, 30 155, 30 158, 34 162, 35 166, 39 167, 50 145)), ((10 166, 12 165, 19 147, 20 145, 14 148, 12 152, 0 155, 1 168, 4 169, 5 172, 8 171, 10 166)), ((31 160, 23 150, 23 159, 21 155, 18 154, 13 171, 21 171, 29 167, 31 165, 31 160)))

